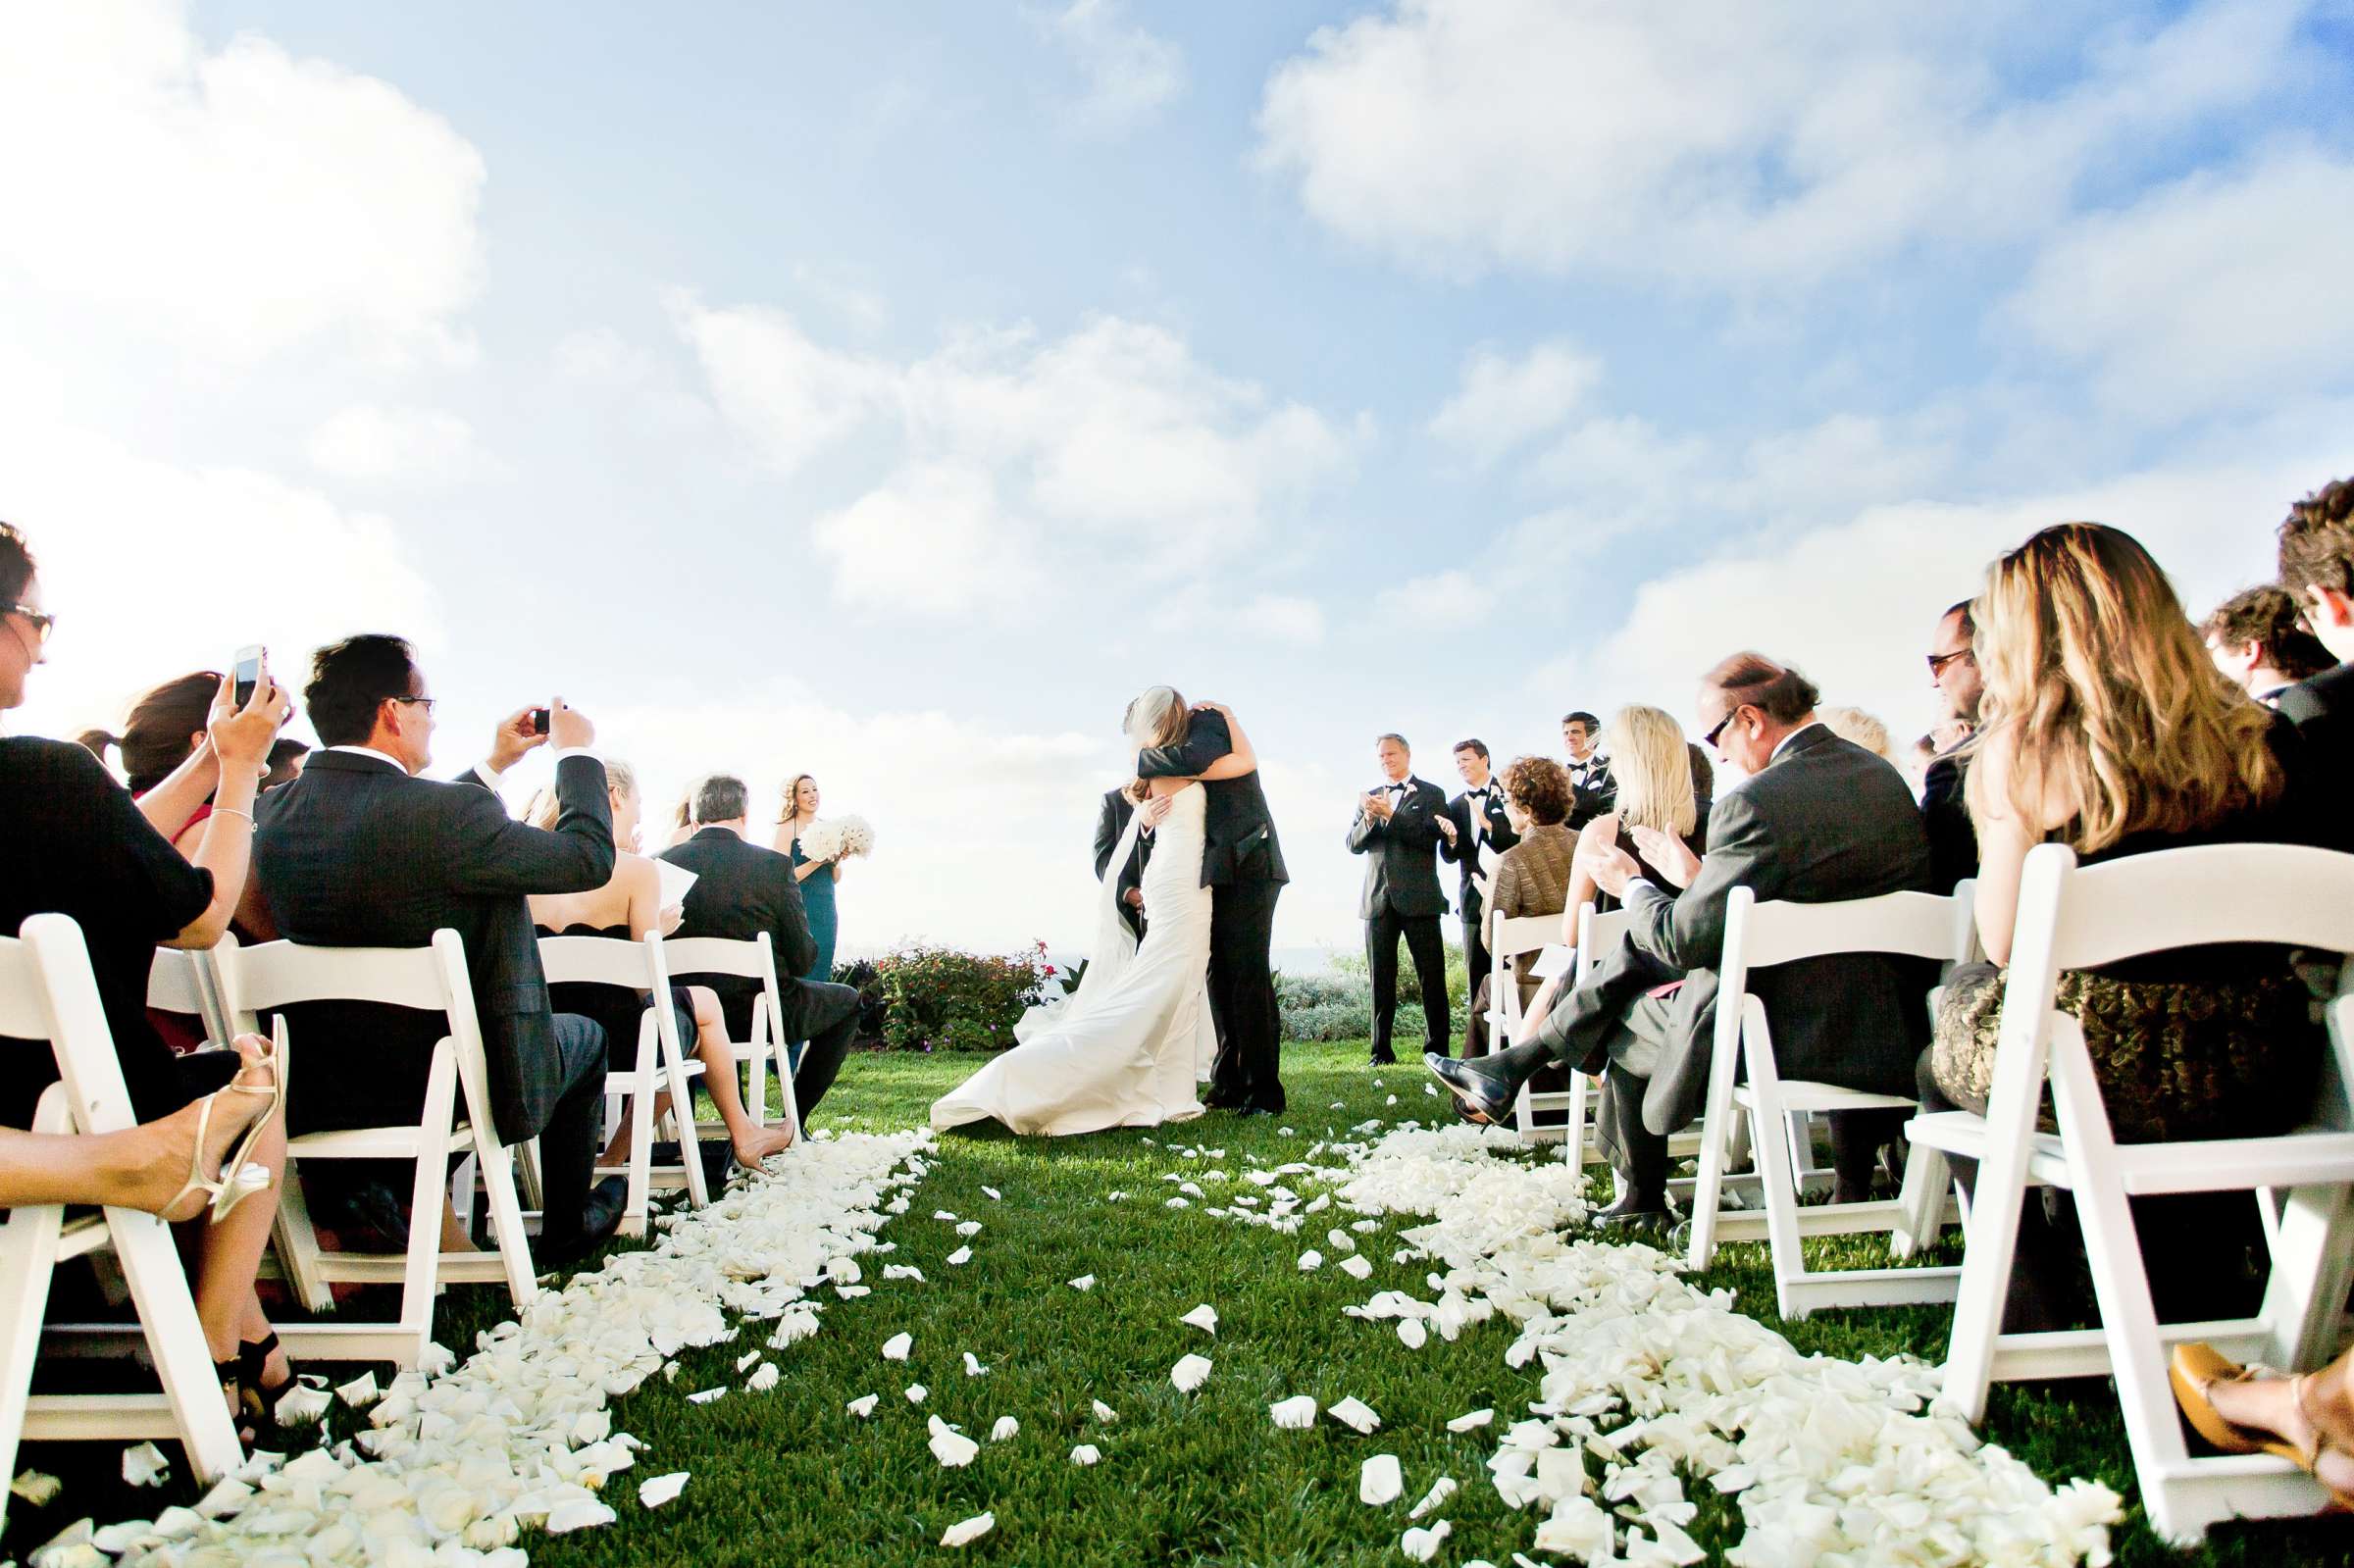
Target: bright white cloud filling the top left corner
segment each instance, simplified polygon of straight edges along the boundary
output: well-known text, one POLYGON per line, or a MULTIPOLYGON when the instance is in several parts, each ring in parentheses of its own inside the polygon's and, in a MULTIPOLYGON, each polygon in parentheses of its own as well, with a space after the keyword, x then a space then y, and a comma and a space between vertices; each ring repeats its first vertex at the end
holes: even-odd
POLYGON ((459 353, 483 158, 367 75, 169 0, 9 7, 0 278, 226 360, 330 332, 459 353))

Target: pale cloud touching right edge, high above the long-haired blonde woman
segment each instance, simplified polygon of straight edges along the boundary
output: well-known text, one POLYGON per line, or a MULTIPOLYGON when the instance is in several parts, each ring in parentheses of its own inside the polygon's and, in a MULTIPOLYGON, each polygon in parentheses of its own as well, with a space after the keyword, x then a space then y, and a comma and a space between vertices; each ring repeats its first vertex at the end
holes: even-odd
POLYGON ((2076 219, 2003 318, 2137 419, 2354 384, 2354 160, 2293 146, 2076 219))

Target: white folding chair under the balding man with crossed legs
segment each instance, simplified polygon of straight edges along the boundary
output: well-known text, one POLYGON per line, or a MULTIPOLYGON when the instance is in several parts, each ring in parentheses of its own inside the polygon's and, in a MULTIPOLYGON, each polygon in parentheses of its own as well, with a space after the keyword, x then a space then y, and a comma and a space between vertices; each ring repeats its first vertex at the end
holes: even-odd
POLYGON ((1954 1300, 1959 1269, 1806 1267, 1803 1236, 1853 1236, 1919 1224, 1916 1215, 1907 1215, 1902 1198, 1801 1205, 1801 1172, 1813 1168, 1808 1118, 1838 1111, 1909 1111, 1916 1102, 1909 1095, 1867 1095, 1834 1083, 1782 1078, 1773 1055, 1773 1024, 1766 1003, 1749 991, 1749 972, 1831 954, 1893 954, 1949 963, 1968 951, 1968 899, 1888 892, 1836 904, 1784 899, 1758 904, 1749 888, 1733 890, 1725 902, 1723 958, 1716 968, 1716 1038, 1700 1137, 1700 1180, 1693 1187, 1688 1257, 1693 1269, 1707 1269, 1721 1241, 1754 1241, 1763 1231, 1773 1248, 1775 1307, 1784 1318, 1803 1318, 1817 1307, 1954 1300), (1747 1083, 1737 1083, 1742 1067, 1747 1083), (1735 1114, 1749 1116, 1763 1212, 1721 1212, 1725 1137, 1735 1114))

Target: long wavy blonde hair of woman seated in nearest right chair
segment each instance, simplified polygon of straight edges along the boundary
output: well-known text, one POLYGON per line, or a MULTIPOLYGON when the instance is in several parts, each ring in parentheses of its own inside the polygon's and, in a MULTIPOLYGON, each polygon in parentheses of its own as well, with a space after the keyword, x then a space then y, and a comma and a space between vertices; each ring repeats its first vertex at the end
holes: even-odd
POLYGON ((2104 523, 2055 523, 1987 570, 1973 605, 1984 727, 1970 815, 2064 803, 2076 850, 2189 831, 2281 793, 2272 711, 2208 659, 2166 572, 2104 523))

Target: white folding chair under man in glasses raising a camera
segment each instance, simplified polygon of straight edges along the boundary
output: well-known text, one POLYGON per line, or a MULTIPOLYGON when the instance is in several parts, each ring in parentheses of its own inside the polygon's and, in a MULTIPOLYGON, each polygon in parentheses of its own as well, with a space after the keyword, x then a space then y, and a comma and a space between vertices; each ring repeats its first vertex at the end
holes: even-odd
MULTIPOLYGON (((433 1340, 435 1283, 497 1283, 523 1309, 539 1285, 516 1198, 513 1149, 499 1142, 490 1114, 490 1069, 483 1029, 466 979, 466 946, 454 930, 433 932, 431 946, 299 946, 264 942, 217 951, 221 994, 238 1029, 254 1029, 264 1010, 315 1001, 358 1001, 440 1012, 450 1034, 426 1069, 424 1111, 417 1121, 341 1132, 306 1132, 287 1142, 287 1184, 278 1203, 280 1260, 313 1311, 332 1307, 330 1281, 400 1283, 400 1316, 391 1323, 285 1323, 280 1337, 294 1356, 327 1361, 395 1361, 417 1366, 433 1340), (457 1111, 464 1107, 464 1123, 457 1111), (490 1194, 492 1253, 443 1253, 440 1217, 447 1161, 471 1151, 490 1194), (410 1161, 410 1236, 403 1253, 325 1253, 301 1198, 299 1172, 311 1161, 410 1161)), ((278 1019, 278 1050, 299 1083, 304 1052, 353 1052, 367 1041, 292 1038, 278 1019)))

